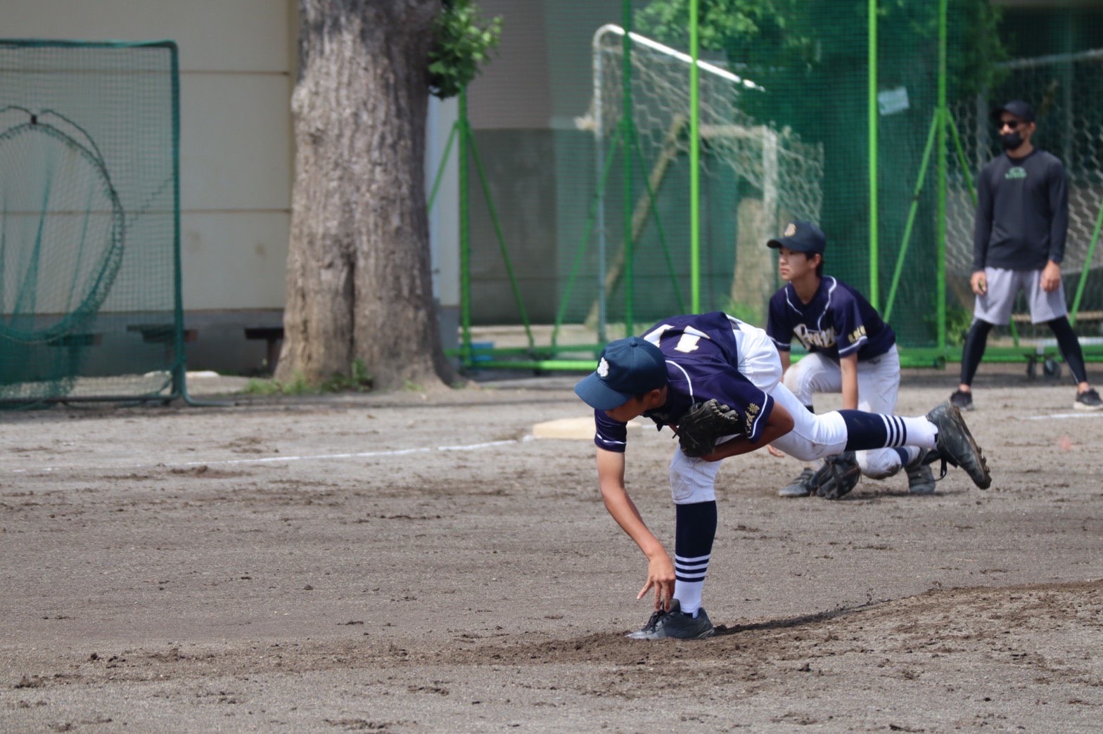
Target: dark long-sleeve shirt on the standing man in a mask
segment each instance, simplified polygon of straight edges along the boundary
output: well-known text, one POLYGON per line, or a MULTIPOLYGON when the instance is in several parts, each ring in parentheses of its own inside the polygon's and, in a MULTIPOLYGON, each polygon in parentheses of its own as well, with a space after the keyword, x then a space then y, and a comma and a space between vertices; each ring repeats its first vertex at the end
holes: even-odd
POLYGON ((1064 259, 1069 194, 1060 159, 1036 148, 1004 153, 981 171, 973 270, 1041 270, 1064 259))

